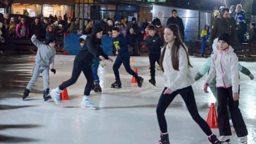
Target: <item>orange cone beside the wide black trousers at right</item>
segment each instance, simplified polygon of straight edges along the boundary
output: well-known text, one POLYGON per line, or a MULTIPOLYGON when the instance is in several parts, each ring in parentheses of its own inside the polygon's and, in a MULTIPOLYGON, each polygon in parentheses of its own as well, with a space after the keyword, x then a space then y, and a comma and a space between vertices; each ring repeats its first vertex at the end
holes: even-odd
POLYGON ((214 103, 211 103, 207 117, 207 124, 209 125, 210 128, 218 128, 218 118, 214 103))

